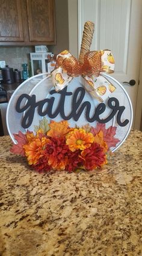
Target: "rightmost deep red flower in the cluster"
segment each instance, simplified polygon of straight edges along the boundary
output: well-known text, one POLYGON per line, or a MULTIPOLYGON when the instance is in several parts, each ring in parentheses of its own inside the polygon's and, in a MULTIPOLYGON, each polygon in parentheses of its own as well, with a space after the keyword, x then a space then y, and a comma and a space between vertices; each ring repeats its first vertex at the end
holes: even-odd
POLYGON ((82 151, 81 157, 84 159, 84 167, 87 170, 93 170, 107 164, 104 149, 96 142, 93 142, 88 149, 82 151))

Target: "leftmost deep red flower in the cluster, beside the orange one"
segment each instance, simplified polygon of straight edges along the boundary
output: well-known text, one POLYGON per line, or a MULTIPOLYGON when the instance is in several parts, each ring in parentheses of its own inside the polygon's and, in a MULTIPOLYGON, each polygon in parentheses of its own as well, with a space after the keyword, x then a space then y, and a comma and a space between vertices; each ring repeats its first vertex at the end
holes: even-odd
POLYGON ((48 164, 53 169, 64 170, 68 162, 68 151, 69 147, 66 145, 64 137, 50 138, 45 149, 48 164))

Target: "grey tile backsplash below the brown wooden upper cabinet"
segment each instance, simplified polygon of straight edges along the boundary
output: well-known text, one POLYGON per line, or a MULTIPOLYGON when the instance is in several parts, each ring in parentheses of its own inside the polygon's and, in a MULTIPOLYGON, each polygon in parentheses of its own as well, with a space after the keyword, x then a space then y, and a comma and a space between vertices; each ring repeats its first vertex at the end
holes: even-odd
POLYGON ((34 52, 34 46, 0 46, 0 60, 10 68, 22 71, 22 63, 29 63, 29 53, 34 52))

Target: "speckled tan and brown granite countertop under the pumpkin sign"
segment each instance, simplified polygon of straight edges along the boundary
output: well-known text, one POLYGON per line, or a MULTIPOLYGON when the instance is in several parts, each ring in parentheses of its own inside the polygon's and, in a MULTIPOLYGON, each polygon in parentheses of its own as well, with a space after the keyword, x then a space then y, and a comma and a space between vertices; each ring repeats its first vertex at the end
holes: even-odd
POLYGON ((88 173, 39 174, 0 145, 0 255, 142 255, 140 131, 88 173))

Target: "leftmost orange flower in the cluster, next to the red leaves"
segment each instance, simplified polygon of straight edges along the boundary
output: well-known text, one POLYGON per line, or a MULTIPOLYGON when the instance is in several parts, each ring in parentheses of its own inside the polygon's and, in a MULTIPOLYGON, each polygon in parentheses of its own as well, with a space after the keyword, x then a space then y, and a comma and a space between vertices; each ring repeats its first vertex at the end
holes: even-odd
POLYGON ((44 146, 48 143, 48 140, 46 137, 35 138, 29 144, 23 146, 29 165, 36 164, 39 158, 43 156, 44 146))

